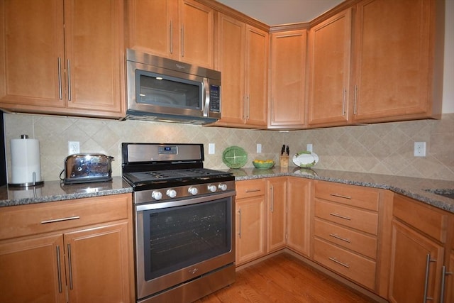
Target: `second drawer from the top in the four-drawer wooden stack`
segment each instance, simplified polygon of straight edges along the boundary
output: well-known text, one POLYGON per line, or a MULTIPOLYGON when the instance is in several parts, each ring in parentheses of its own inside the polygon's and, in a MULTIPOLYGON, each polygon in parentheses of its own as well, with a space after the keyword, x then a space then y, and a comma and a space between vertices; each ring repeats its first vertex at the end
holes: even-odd
POLYGON ((327 221, 377 235, 377 213, 316 199, 315 215, 327 221))

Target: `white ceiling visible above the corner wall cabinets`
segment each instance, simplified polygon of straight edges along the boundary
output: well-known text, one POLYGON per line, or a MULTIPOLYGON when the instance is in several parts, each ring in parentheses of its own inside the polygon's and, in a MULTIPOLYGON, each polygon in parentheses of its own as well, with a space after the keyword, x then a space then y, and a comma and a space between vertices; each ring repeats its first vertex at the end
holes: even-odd
POLYGON ((216 0, 269 26, 309 22, 344 0, 216 0))

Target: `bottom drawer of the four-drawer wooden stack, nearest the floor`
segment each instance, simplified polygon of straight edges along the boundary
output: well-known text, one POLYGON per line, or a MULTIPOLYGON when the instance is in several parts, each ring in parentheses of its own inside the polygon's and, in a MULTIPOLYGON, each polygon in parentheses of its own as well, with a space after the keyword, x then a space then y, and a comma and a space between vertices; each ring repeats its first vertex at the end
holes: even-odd
POLYGON ((375 262, 314 239, 314 260, 371 290, 375 289, 375 262))

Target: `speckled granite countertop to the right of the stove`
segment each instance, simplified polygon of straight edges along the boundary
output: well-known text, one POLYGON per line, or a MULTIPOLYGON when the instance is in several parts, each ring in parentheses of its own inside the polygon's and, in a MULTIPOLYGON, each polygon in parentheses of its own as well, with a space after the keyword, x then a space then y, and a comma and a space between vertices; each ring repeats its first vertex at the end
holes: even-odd
POLYGON ((434 193, 454 193, 454 181, 376 175, 361 172, 343 172, 339 170, 319 170, 316 168, 304 169, 299 167, 275 167, 269 170, 244 168, 227 171, 232 172, 233 175, 235 175, 236 181, 265 177, 296 176, 314 180, 389 189, 392 192, 403 194, 406 197, 410 197, 420 202, 436 206, 439 209, 444 209, 445 211, 454 213, 454 199, 443 197, 434 193), (431 192, 428 192, 428 190, 431 192))

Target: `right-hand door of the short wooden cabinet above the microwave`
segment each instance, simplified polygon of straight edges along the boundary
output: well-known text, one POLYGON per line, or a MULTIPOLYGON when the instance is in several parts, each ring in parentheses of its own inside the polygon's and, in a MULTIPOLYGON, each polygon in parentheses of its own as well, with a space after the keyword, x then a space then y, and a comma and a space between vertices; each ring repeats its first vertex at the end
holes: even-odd
POLYGON ((179 60, 212 68, 213 9, 194 0, 180 0, 179 5, 179 60))

